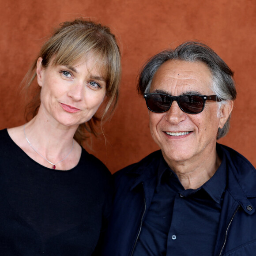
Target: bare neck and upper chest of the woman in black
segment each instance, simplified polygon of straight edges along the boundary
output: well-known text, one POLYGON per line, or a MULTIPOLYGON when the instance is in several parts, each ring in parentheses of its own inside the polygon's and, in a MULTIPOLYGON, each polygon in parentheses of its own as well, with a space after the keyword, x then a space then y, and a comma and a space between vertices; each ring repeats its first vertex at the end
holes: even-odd
POLYGON ((34 161, 48 168, 58 163, 56 169, 68 170, 77 165, 82 151, 73 139, 76 129, 36 116, 25 125, 8 129, 8 133, 34 161))

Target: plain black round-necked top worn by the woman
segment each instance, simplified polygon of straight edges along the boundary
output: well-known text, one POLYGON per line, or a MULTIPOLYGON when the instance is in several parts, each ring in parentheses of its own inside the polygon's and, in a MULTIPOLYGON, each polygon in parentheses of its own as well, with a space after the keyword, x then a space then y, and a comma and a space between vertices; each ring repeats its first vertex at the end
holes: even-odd
POLYGON ((0 131, 0 255, 91 255, 109 215, 110 181, 84 149, 73 169, 53 170, 0 131))

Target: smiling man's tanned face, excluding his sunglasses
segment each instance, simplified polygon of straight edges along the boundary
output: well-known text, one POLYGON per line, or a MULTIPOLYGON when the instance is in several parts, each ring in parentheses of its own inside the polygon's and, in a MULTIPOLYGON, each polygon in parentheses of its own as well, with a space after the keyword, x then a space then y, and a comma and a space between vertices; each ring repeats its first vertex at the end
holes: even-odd
MULTIPOLYGON (((169 60, 155 73, 150 92, 213 95, 210 85, 211 72, 205 64, 169 60)), ((212 155, 218 128, 225 124, 218 111, 221 109, 215 101, 206 101, 203 112, 198 114, 184 113, 176 101, 164 113, 149 111, 151 135, 166 162, 194 162, 212 155)))

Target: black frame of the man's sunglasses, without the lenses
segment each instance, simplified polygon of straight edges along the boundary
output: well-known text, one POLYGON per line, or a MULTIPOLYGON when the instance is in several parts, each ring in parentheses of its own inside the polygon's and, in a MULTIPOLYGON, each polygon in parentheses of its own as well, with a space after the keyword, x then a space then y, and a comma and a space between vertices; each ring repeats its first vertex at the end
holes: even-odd
POLYGON ((183 95, 179 95, 179 96, 171 96, 171 95, 169 95, 169 94, 163 94, 163 93, 144 93, 144 98, 145 98, 145 100, 146 100, 147 108, 148 108, 151 112, 154 112, 154 113, 164 113, 164 112, 168 111, 168 110, 170 109, 171 105, 173 104, 173 101, 176 101, 176 102, 178 103, 178 105, 179 105, 179 108, 180 108, 183 112, 185 112, 185 113, 188 113, 188 114, 199 114, 199 113, 201 113, 201 112, 203 111, 203 109, 202 109, 200 112, 196 112, 196 113, 189 113, 189 112, 187 112, 187 111, 184 111, 184 110, 181 108, 180 101, 179 101, 179 98, 181 98, 181 97, 183 97, 183 96, 199 96, 200 98, 203 99, 203 109, 204 109, 204 106, 205 106, 205 102, 206 102, 207 100, 216 101, 216 102, 221 102, 221 101, 222 101, 220 98, 218 98, 217 95, 208 95, 208 96, 207 96, 207 95, 201 95, 201 94, 183 94, 183 95), (151 110, 151 109, 149 108, 149 106, 148 106, 148 104, 147 104, 147 99, 148 99, 147 97, 148 97, 149 95, 154 95, 154 94, 157 94, 157 95, 164 95, 164 96, 167 96, 168 98, 170 98, 171 103, 170 103, 168 109, 163 110, 163 111, 153 111, 153 110, 151 110))

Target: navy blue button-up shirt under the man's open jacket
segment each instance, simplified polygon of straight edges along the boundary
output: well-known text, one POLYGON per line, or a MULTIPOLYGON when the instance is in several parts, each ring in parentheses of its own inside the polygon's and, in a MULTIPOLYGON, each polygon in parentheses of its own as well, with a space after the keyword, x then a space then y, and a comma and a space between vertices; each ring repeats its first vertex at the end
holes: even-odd
POLYGON ((184 189, 162 158, 134 256, 212 256, 226 188, 226 159, 198 189, 184 189))

